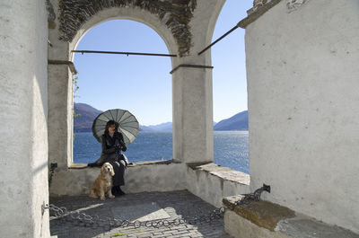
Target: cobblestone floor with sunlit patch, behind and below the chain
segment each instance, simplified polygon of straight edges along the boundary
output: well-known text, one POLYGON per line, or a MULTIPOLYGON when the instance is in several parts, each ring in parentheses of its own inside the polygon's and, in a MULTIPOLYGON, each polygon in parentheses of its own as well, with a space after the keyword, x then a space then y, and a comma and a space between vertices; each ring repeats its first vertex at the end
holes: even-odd
MULTIPOLYGON (((151 217, 174 218, 198 217, 208 215, 215 207, 197 198, 188 191, 171 192, 143 192, 127 194, 125 196, 106 199, 80 197, 50 198, 50 204, 57 207, 66 207, 68 211, 80 210, 90 216, 109 217, 121 220, 150 219, 151 217), (123 211, 123 212, 121 212, 123 211)), ((53 213, 50 213, 50 216, 53 213)), ((103 225, 83 225, 71 218, 50 217, 51 235, 58 238, 104 238, 104 237, 218 237, 230 238, 225 234, 223 218, 209 223, 202 222, 197 225, 183 223, 180 225, 161 226, 159 228, 141 226, 115 227, 103 225)))

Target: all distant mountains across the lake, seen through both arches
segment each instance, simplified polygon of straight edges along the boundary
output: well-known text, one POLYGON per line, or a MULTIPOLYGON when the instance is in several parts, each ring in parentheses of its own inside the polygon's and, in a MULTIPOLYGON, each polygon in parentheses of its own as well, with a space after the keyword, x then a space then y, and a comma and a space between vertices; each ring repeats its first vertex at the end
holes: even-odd
MULTIPOLYGON (((101 113, 86 103, 74 102, 74 132, 91 132, 93 120, 101 113)), ((172 122, 159 125, 143 126, 140 131, 171 131, 172 122)), ((214 122, 214 130, 248 130, 248 111, 244 110, 229 119, 214 122)))

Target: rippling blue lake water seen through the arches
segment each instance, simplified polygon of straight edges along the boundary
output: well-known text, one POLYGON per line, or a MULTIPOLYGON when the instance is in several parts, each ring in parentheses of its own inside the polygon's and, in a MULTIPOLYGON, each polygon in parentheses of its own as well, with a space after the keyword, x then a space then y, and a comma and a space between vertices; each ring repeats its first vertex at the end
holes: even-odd
MULTIPOLYGON (((215 163, 233 170, 249 173, 248 131, 215 131, 215 163)), ((74 163, 92 163, 101 154, 101 144, 92 132, 75 133, 74 163)), ((129 162, 172 159, 172 132, 140 131, 136 140, 127 146, 129 162)))

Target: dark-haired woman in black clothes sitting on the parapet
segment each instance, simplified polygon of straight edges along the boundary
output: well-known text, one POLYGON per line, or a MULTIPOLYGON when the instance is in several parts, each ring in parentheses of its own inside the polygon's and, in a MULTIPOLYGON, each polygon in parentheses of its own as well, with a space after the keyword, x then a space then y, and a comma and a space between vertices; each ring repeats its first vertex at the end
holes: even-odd
POLYGON ((125 185, 125 169, 127 168, 127 158, 121 151, 126 151, 122 133, 118 132, 118 123, 109 120, 106 124, 105 133, 101 136, 102 152, 101 157, 95 163, 89 163, 90 167, 101 167, 103 163, 110 163, 115 172, 112 177, 112 194, 114 196, 124 195, 120 186, 125 185))

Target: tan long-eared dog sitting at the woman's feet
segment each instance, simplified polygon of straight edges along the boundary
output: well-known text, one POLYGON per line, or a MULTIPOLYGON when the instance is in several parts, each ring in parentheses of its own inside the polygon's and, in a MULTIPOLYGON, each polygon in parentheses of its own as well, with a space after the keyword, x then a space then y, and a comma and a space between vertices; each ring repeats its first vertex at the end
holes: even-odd
POLYGON ((105 200, 105 193, 109 198, 115 198, 112 195, 112 176, 115 175, 113 167, 110 163, 103 163, 101 172, 97 177, 96 181, 93 182, 92 189, 90 191, 90 198, 99 198, 105 200))

